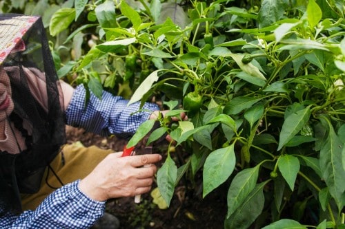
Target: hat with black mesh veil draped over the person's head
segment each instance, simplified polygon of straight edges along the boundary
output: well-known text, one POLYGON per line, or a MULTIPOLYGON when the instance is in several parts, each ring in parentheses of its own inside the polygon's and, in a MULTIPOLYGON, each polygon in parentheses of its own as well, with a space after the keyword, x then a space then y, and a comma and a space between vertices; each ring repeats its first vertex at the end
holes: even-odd
POLYGON ((0 14, 0 215, 39 190, 66 142, 62 105, 41 18, 0 14))

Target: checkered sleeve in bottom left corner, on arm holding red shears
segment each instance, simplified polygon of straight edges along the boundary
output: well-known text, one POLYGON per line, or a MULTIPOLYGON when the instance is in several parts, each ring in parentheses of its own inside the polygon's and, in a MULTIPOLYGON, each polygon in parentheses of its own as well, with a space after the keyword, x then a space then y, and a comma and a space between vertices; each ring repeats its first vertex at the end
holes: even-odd
POLYGON ((95 201, 81 193, 80 180, 66 184, 48 195, 36 210, 21 215, 6 213, 0 217, 0 228, 90 228, 105 209, 105 201, 95 201))

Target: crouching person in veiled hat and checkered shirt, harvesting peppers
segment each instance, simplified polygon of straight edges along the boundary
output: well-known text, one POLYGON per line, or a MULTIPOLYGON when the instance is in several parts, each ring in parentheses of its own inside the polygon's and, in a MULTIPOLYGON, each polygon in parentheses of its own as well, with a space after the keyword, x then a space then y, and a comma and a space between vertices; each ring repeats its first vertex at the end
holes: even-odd
POLYGON ((66 145, 65 125, 128 137, 164 111, 88 93, 57 79, 40 17, 0 14, 0 228, 90 228, 150 190, 161 155, 66 145))

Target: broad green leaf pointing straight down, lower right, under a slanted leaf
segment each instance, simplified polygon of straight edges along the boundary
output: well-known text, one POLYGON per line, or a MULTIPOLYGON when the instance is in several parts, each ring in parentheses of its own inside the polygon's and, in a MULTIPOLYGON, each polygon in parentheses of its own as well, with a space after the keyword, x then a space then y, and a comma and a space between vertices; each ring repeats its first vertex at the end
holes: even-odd
POLYGON ((295 187, 297 173, 299 172, 299 160, 293 155, 282 155, 278 159, 278 168, 284 179, 293 191, 295 187))

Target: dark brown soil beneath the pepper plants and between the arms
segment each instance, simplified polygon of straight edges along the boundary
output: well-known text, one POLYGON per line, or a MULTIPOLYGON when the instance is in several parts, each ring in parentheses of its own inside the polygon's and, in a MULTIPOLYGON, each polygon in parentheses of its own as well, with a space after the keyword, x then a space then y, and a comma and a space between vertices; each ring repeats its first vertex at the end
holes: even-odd
MULTIPOLYGON (((103 138, 73 127, 67 127, 66 133, 70 144, 80 142, 84 146, 96 145, 102 149, 114 151, 122 151, 127 142, 125 139, 116 137, 103 138)), ((162 153, 164 146, 168 146, 166 143, 162 142, 153 151, 166 157, 162 153)), ((224 228, 227 210, 226 190, 223 187, 217 188, 203 199, 201 178, 202 174, 199 173, 195 176, 194 184, 188 184, 187 180, 180 182, 175 188, 170 207, 167 209, 159 209, 152 203, 150 193, 146 193, 141 195, 139 204, 135 204, 134 197, 111 199, 106 204, 106 212, 115 215, 120 220, 121 229, 224 228)), ((152 188, 155 187, 154 184, 152 188)))

